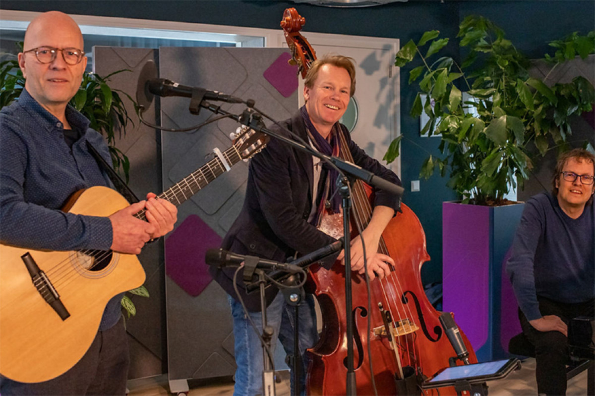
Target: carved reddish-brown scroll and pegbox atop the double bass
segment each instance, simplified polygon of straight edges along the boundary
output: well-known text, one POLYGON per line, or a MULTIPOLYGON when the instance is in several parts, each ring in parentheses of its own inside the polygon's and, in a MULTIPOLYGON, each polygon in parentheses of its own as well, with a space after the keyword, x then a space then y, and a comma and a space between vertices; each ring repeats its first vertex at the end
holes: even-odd
POLYGON ((283 12, 281 27, 285 34, 285 41, 289 49, 292 50, 292 59, 289 62, 292 65, 297 65, 302 78, 306 78, 310 65, 316 60, 316 51, 312 49, 308 40, 299 33, 305 23, 306 18, 298 14, 295 8, 287 8, 283 12))

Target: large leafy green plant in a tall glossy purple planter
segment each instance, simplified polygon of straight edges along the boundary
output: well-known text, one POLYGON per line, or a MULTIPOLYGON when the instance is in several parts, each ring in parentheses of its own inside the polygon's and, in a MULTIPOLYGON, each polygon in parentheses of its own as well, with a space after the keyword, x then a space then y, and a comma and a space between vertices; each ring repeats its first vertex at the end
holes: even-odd
MULTIPOLYGON (((447 186, 461 197, 461 203, 443 203, 443 306, 459 313, 478 359, 491 360, 505 354, 507 337, 518 332, 516 302, 502 292, 508 285, 502 270, 522 205, 507 205, 505 195, 522 188, 538 156, 568 148, 569 119, 593 108, 594 89, 583 77, 552 86, 549 75, 531 77, 531 62, 486 18, 466 17, 457 37, 461 64, 439 56, 449 38, 432 30, 406 43, 395 65, 421 59, 409 72, 409 84, 419 87, 411 115, 425 113, 422 134, 440 135, 442 156, 428 156, 420 176, 436 170, 449 175, 447 186), (513 328, 503 334, 509 320, 513 328)), ((553 70, 594 53, 595 32, 550 45, 557 49, 546 55, 553 70)), ((392 142, 385 160, 396 158, 402 138, 392 142)), ((584 145, 593 150, 590 142, 584 145)))

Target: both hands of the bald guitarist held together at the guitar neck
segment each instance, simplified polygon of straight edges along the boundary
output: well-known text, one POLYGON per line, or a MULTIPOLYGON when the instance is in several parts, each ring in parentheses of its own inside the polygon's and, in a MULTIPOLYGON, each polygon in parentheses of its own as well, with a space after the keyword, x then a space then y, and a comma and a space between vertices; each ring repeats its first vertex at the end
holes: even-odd
POLYGON ((139 254, 145 243, 164 236, 174 229, 177 208, 167 199, 157 199, 152 192, 145 201, 137 202, 109 216, 113 239, 111 249, 115 252, 139 254), (137 215, 144 210, 147 221, 137 215))

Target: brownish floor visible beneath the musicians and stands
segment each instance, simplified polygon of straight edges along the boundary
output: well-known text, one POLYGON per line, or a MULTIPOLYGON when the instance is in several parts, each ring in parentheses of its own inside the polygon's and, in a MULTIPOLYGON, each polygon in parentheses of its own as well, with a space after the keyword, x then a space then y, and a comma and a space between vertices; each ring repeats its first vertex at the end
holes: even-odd
MULTIPOLYGON (((281 384, 275 387, 277 396, 290 396, 289 372, 281 372, 281 384)), ((161 396, 169 395, 167 376, 153 379, 142 379, 129 382, 129 396, 161 396)), ((536 396, 535 359, 522 362, 520 370, 512 372, 504 379, 488 382, 489 396, 536 396)), ((202 382, 190 384, 188 396, 226 396, 233 394, 233 382, 202 382)), ((585 396, 587 394, 587 372, 584 371, 568 382, 568 396, 585 396)), ((359 395, 365 396, 365 395, 359 395)))

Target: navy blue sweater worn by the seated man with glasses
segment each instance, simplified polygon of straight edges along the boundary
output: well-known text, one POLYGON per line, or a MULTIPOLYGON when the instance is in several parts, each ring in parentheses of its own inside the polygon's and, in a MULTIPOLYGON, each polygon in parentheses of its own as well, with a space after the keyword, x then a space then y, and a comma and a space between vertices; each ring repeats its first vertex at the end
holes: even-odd
POLYGON ((541 318, 537 296, 562 303, 595 298, 594 217, 594 205, 574 219, 550 194, 528 199, 506 264, 528 320, 541 318))

